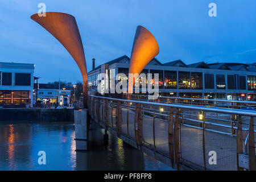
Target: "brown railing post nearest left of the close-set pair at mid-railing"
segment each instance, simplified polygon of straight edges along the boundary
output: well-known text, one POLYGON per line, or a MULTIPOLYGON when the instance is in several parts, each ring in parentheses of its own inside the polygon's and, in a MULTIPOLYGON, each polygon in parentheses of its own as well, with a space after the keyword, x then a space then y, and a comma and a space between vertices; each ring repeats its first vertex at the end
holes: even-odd
POLYGON ((142 113, 141 113, 141 104, 136 105, 135 110, 135 121, 134 121, 134 131, 135 131, 135 142, 137 148, 142 147, 142 113))

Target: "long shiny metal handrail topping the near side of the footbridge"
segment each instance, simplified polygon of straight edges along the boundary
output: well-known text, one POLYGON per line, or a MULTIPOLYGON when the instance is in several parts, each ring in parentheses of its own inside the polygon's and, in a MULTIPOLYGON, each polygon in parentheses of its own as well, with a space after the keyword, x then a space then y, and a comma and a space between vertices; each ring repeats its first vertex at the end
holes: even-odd
POLYGON ((123 100, 119 98, 110 98, 110 97, 101 97, 101 96, 92 96, 95 98, 103 98, 112 101, 123 101, 123 102, 133 102, 137 104, 151 104, 163 107, 174 107, 179 109, 190 109, 190 110, 200 110, 200 111, 207 111, 207 112, 215 112, 215 113, 226 113, 226 114, 238 114, 238 115, 245 115, 245 116, 253 116, 256 117, 256 111, 248 111, 248 110, 239 110, 239 109, 225 109, 225 108, 211 108, 211 107, 203 107, 203 106, 191 106, 191 105, 179 105, 179 104, 164 104, 158 102, 145 102, 145 101, 134 101, 134 100, 123 100))

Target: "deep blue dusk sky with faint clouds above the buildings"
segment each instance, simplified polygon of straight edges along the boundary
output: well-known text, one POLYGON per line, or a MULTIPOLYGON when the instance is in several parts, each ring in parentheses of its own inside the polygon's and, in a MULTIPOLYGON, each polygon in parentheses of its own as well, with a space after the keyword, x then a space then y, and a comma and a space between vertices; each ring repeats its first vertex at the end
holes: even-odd
POLYGON ((46 11, 75 16, 88 72, 106 61, 131 56, 138 25, 158 41, 162 63, 181 59, 186 64, 205 61, 256 62, 255 0, 1 0, 0 62, 35 64, 39 82, 82 80, 67 50, 30 16, 38 4, 46 11), (210 17, 209 3, 217 17, 210 17))

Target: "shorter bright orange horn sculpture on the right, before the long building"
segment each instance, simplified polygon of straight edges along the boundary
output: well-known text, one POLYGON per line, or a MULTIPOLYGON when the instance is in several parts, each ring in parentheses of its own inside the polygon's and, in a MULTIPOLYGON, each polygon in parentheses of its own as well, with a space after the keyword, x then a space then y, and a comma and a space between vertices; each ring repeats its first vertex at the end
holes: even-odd
MULTIPOLYGON (((138 26, 131 51, 129 73, 141 74, 142 70, 159 53, 159 46, 154 36, 146 28, 138 26)), ((138 77, 129 80, 128 93, 132 94, 133 84, 138 77)))

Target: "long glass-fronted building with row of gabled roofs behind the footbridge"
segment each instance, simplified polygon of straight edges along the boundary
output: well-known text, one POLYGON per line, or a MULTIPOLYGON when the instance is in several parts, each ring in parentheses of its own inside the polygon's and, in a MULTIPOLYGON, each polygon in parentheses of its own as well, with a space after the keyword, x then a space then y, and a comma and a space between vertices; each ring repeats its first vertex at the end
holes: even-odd
MULTIPOLYGON (((108 73, 110 81, 118 73, 126 74, 119 80, 127 79, 129 64, 125 55, 93 68, 88 73, 89 89, 97 90, 100 73, 108 73)), ((201 61, 187 65, 181 60, 163 64, 153 59, 142 73, 159 73, 160 96, 256 101, 256 70, 247 64, 201 61)))

